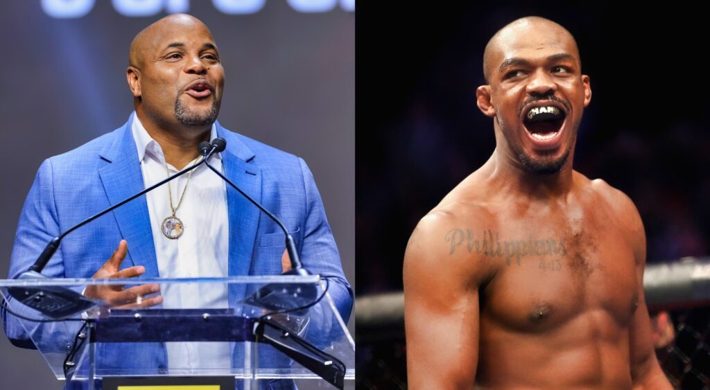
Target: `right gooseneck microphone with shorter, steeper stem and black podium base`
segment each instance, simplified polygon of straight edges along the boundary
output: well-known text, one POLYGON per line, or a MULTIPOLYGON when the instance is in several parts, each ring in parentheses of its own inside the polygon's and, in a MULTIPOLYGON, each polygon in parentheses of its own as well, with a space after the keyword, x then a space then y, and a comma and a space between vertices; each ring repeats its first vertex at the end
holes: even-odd
MULTIPOLYGON (((209 144, 202 144, 207 143, 201 143, 200 150, 207 151, 207 145, 209 144)), ((210 146, 214 150, 216 150, 216 152, 222 152, 226 148, 226 140, 224 140, 224 138, 215 138, 214 140, 212 140, 212 145, 210 146)), ((251 196, 242 191, 239 186, 231 182, 231 180, 224 176, 222 172, 219 172, 218 169, 212 167, 212 165, 210 165, 207 160, 204 160, 204 165, 207 165, 207 167, 212 170, 212 172, 217 174, 217 176, 221 177, 224 182, 229 184, 231 188, 238 191, 239 194, 244 196, 244 198, 250 201, 251 204, 256 206, 259 210, 263 211, 266 216, 271 218, 271 220, 274 221, 281 230, 283 230, 283 234, 285 235, 286 250, 288 251, 288 258, 291 263, 291 269, 286 272, 283 272, 283 275, 310 275, 310 272, 303 268, 303 265, 300 262, 300 258, 298 257, 298 252, 296 250, 296 244, 293 240, 293 236, 288 233, 288 229, 286 229, 286 226, 283 224, 283 222, 281 222, 280 219, 276 218, 273 213, 261 206, 261 204, 259 204, 257 201, 252 199, 251 196)), ((316 296, 317 289, 315 288, 315 286, 312 286, 312 288, 310 288, 310 286, 304 288, 304 286, 301 286, 300 284, 267 284, 266 286, 263 286, 261 289, 259 289, 259 291, 256 291, 256 293, 254 293, 253 295, 243 299, 241 302, 249 303, 253 306, 259 306, 272 311, 280 311, 305 306, 307 303, 312 302, 316 298, 316 296)))

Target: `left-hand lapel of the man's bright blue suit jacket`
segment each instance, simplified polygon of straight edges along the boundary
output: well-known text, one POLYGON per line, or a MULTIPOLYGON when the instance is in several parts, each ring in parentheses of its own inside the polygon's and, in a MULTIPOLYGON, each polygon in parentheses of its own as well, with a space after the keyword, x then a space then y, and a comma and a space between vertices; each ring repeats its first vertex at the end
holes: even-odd
MULTIPOLYGON (((117 134, 119 136, 115 142, 101 153, 104 160, 109 162, 99 169, 99 176, 110 204, 117 204, 145 188, 131 123, 133 115, 124 126, 123 132, 117 134)), ((155 260, 155 245, 146 196, 116 208, 113 214, 121 235, 129 244, 128 260, 133 265, 146 267, 145 277, 158 277, 158 262, 155 260)), ((111 243, 114 246, 117 244, 111 243)))

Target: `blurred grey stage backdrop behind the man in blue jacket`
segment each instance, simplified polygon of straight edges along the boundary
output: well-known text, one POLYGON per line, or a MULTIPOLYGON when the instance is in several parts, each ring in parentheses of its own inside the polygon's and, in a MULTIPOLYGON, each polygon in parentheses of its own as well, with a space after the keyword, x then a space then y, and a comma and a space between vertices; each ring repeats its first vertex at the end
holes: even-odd
MULTIPOLYGON (((219 45, 220 123, 306 160, 355 284, 354 0, 32 0, 0 8, 0 277, 40 163, 126 122, 133 36, 168 12, 187 12, 219 45), (75 17, 53 17, 62 11, 75 17)), ((4 336, 0 377, 3 389, 62 386, 36 351, 4 336)))

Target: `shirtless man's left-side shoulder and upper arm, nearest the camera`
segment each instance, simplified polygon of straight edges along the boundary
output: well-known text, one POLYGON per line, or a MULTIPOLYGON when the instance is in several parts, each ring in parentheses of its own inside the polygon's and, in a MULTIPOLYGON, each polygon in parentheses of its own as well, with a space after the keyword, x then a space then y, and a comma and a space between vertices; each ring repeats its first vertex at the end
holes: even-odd
POLYGON ((467 227, 476 228, 434 211, 420 221, 407 245, 403 277, 410 389, 474 388, 479 288, 491 272, 490 264, 466 250, 467 227))

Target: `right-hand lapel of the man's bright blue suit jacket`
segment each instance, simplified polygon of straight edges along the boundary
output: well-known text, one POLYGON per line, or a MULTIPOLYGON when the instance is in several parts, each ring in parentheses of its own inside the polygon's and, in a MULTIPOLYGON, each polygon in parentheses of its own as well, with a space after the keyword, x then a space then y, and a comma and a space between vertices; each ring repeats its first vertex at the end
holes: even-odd
MULTIPOLYGON (((217 135, 226 140, 226 150, 222 152, 224 175, 261 203, 261 169, 249 163, 254 157, 253 152, 219 123, 217 135)), ((226 184, 226 203, 229 213, 229 276, 248 275, 261 211, 229 184, 226 184)))

